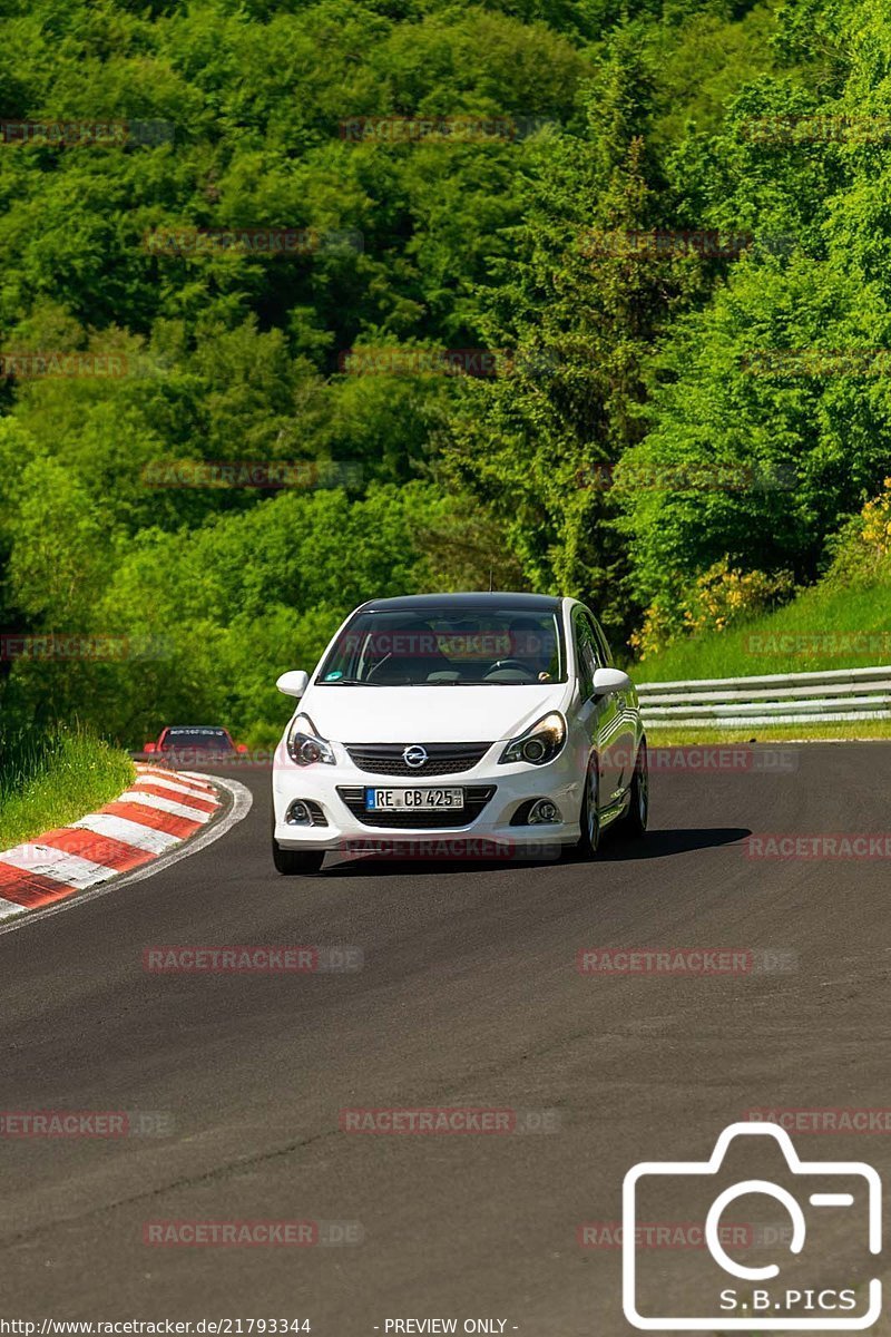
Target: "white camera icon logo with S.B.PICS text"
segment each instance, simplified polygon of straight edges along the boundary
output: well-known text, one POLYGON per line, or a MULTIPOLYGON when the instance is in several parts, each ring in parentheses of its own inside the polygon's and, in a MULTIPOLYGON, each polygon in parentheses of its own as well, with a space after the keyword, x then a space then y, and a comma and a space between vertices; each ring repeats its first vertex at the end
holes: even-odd
MULTIPOLYGON (((860 1238, 854 1219, 859 1209, 867 1253, 882 1251, 882 1181, 878 1171, 859 1161, 801 1161, 788 1132, 771 1123, 729 1124, 720 1134, 708 1161, 645 1161, 633 1166, 622 1185, 625 1318, 633 1328, 651 1332, 850 1332, 870 1328, 882 1314, 882 1282, 878 1277, 858 1274, 855 1285, 828 1286, 826 1263, 822 1263, 816 1285, 800 1281, 806 1261, 815 1261, 808 1258, 806 1246, 812 1237, 818 1242, 827 1239, 831 1209, 844 1214, 843 1238, 847 1242, 860 1238), (727 1174, 724 1163, 732 1144, 735 1154, 757 1151, 771 1154, 773 1161, 779 1151, 784 1165, 777 1178, 799 1193, 765 1178, 743 1178, 715 1193, 717 1177, 723 1170, 727 1174), (652 1254, 647 1255, 640 1249, 640 1227, 647 1221, 647 1215, 641 1214, 641 1198, 649 1201, 652 1195, 664 1203, 671 1189, 671 1178, 665 1177, 683 1185, 683 1201, 699 1203, 701 1198, 703 1213, 697 1219, 704 1227, 697 1230, 697 1237, 704 1242, 704 1250, 697 1258, 689 1253, 684 1258, 675 1257, 672 1263, 663 1258, 657 1273, 645 1278, 643 1265, 652 1261, 652 1254), (784 1239, 788 1253, 781 1258, 783 1267, 761 1259, 755 1266, 727 1251, 728 1227, 721 1218, 737 1199, 752 1197, 767 1199, 772 1209, 779 1206, 791 1221, 784 1239), (707 1210, 705 1203, 711 1203, 707 1210), (681 1292, 685 1297, 696 1293, 697 1301, 681 1302, 681 1292), (667 1296, 677 1308, 701 1312, 661 1313, 660 1309, 671 1308, 667 1296)), ((769 1234, 776 1241, 776 1229, 769 1234)), ((731 1230, 729 1237, 739 1242, 739 1229, 731 1230)), ((830 1247, 826 1253, 838 1262, 835 1249, 830 1247)), ((867 1271, 872 1270, 867 1267, 867 1271)))

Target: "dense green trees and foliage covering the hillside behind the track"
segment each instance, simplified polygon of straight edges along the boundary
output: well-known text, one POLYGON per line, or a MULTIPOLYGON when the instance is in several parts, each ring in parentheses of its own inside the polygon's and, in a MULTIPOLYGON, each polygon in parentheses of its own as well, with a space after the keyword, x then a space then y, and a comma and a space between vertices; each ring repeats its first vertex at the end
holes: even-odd
POLYGON ((7 714, 259 737, 362 598, 490 580, 581 595, 628 643, 716 564, 812 582, 879 492, 878 364, 759 358, 888 346, 882 0, 3 9, 0 119, 154 127, 0 143, 0 348, 127 373, 0 380, 0 632, 155 647, 16 659, 7 714), (788 115, 856 126, 757 131, 788 115), (310 241, 152 249, 171 229, 310 241), (629 254, 641 229, 748 239, 629 254), (498 374, 355 374, 351 349, 498 350, 498 374), (150 485, 183 460, 350 468, 150 485))

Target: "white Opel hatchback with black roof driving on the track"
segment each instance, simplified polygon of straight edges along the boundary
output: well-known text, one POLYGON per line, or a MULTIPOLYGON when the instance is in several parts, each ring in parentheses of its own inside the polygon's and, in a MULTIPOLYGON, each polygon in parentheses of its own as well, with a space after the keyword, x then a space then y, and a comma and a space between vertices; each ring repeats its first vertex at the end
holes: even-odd
POLYGON ((592 857, 608 825, 647 828, 637 694, 576 599, 373 599, 278 687, 301 698, 273 769, 279 873, 437 840, 592 857))

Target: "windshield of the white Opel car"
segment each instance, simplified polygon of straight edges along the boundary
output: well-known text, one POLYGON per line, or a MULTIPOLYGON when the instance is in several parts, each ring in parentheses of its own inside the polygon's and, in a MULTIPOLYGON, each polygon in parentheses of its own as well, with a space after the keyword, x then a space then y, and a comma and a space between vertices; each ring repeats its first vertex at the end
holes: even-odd
POLYGON ((482 611, 443 603, 423 612, 358 612, 319 670, 317 685, 466 686, 565 682, 556 614, 482 611))

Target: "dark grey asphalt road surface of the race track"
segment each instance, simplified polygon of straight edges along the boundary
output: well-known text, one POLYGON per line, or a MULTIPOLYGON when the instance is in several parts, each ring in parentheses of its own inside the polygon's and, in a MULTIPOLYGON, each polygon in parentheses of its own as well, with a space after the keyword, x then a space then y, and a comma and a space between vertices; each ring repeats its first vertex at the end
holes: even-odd
MULTIPOLYGON (((0 935, 0 1108, 159 1119, 0 1136, 0 1314, 631 1332, 610 1234, 631 1166, 704 1161, 753 1108, 891 1106, 890 861, 747 856, 749 833, 887 833, 891 745, 784 753, 795 769, 657 774, 651 833, 608 840, 596 864, 355 858, 314 878, 274 873, 269 775, 236 770, 254 805, 215 844, 0 935), (146 969, 166 944, 355 948, 362 968, 146 969), (580 972, 598 948, 720 948, 757 968, 580 972), (421 1107, 512 1111, 509 1131, 357 1134, 341 1114, 421 1107), (146 1242, 151 1223, 246 1221, 318 1234, 146 1242)), ((887 1132, 795 1143, 891 1169, 887 1132)), ((695 1198, 681 1186, 645 1219, 701 1221, 695 1198)), ((859 1278, 862 1222, 820 1229, 820 1281, 859 1278)), ((681 1313, 705 1266, 687 1245, 644 1250, 653 1302, 681 1313)))

